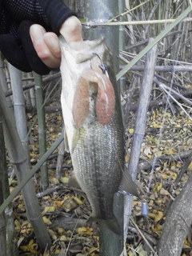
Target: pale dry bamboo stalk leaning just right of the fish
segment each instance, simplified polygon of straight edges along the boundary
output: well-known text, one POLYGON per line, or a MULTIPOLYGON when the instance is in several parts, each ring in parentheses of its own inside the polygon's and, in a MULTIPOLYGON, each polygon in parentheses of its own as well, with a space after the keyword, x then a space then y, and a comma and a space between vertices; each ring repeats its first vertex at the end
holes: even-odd
MULTIPOLYGON (((130 151, 130 162, 128 166, 128 170, 123 173, 123 177, 126 177, 127 173, 130 173, 132 178, 135 180, 138 173, 138 160, 142 147, 142 138, 145 134, 145 126, 146 126, 146 112, 148 109, 148 105, 150 102, 150 90, 153 83, 154 78, 154 66, 157 58, 157 50, 158 46, 154 46, 148 54, 146 54, 146 66, 143 74, 142 87, 140 90, 139 96, 139 105, 138 111, 134 126, 134 137, 130 151)), ((123 178, 122 178, 123 182, 123 178)), ((126 195, 125 196, 125 206, 124 206, 124 237, 126 237, 126 233, 128 230, 128 223, 131 214, 131 206, 132 206, 133 197, 126 195)))

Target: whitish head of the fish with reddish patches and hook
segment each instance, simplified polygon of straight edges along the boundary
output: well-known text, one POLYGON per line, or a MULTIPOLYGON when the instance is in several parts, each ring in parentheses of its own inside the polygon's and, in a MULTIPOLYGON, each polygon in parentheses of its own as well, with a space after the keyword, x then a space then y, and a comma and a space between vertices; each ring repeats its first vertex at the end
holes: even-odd
POLYGON ((110 122, 114 113, 114 86, 110 82, 110 51, 105 38, 84 41, 73 50, 60 39, 62 90, 72 112, 75 128, 98 121, 110 122))

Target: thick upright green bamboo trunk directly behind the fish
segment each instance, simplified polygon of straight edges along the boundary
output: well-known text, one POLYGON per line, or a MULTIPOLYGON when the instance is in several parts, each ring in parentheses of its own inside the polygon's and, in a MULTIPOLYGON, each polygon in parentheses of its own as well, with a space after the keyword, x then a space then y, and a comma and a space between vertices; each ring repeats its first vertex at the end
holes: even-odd
MULTIPOLYGON (((109 20, 118 14, 118 1, 85 1, 85 19, 86 22, 109 20), (94 10, 94 11, 93 11, 94 10)), ((114 59, 114 72, 117 74, 119 69, 118 62, 118 27, 86 27, 86 39, 98 39, 101 36, 106 38, 106 46, 109 47, 114 59), (115 36, 114 36, 115 35, 115 36)), ((112 65, 112 63, 111 63, 112 65)), ((115 82, 115 78, 114 78, 115 82)), ((112 81, 113 83, 113 81, 112 81)), ((119 93, 120 98, 120 93, 119 93)), ((121 234, 114 234, 106 227, 104 222, 99 223, 99 255, 100 256, 119 256, 122 254, 124 238, 123 238, 123 200, 122 194, 114 194, 114 215, 118 219, 121 234), (109 239, 110 238, 110 239, 109 239)))

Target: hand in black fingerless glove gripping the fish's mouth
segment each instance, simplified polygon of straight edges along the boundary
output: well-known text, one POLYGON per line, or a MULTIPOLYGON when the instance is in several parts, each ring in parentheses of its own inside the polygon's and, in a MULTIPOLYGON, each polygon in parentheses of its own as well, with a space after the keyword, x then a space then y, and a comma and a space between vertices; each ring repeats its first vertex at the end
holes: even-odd
POLYGON ((62 0, 6 0, 4 3, 0 17, 0 51, 19 70, 48 74, 50 68, 58 67, 59 32, 72 44, 82 40, 81 23, 62 0))

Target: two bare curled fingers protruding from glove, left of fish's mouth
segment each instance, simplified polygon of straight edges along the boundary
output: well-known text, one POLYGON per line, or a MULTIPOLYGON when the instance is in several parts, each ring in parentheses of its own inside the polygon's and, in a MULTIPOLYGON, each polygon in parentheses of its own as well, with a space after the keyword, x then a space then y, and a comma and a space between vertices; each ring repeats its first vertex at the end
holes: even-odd
POLYGON ((42 62, 50 68, 58 68, 61 62, 61 52, 56 38, 57 35, 54 35, 54 33, 46 34, 46 30, 42 26, 34 24, 30 26, 30 37, 42 62))

